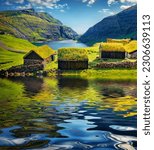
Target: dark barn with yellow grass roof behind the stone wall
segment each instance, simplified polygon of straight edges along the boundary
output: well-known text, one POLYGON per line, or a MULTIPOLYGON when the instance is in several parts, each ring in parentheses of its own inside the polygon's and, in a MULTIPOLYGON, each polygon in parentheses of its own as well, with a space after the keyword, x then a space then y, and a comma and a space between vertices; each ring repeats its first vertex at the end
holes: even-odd
POLYGON ((125 59, 125 48, 121 43, 101 43, 99 53, 103 59, 125 59))

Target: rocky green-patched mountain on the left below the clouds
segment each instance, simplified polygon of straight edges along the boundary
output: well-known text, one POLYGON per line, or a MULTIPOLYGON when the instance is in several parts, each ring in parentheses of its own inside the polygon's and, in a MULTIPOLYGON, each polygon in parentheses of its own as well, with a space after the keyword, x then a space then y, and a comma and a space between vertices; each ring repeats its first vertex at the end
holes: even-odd
POLYGON ((34 9, 0 12, 0 34, 8 33, 29 41, 76 39, 70 27, 44 12, 34 9))

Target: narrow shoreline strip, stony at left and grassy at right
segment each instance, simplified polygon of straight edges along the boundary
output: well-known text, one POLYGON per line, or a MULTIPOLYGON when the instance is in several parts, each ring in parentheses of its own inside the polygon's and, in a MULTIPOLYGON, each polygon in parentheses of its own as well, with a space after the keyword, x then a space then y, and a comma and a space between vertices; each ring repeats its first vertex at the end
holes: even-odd
POLYGON ((87 79, 104 79, 104 80, 137 80, 136 69, 87 69, 87 70, 50 70, 37 72, 7 72, 0 71, 0 77, 59 77, 71 76, 87 79))

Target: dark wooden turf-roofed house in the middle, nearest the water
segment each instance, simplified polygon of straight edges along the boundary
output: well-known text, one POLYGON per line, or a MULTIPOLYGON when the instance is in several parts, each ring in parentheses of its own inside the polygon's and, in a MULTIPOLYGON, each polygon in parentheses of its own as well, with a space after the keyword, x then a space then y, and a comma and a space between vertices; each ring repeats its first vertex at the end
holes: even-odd
POLYGON ((58 69, 88 69, 88 55, 84 48, 61 48, 58 50, 58 69))

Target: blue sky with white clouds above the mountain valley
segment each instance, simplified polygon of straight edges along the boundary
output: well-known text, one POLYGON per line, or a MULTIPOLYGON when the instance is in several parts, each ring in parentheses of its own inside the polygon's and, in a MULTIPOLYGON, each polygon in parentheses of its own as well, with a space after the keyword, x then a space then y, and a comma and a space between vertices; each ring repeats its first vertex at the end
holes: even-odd
POLYGON ((135 4, 136 0, 0 0, 0 10, 33 7, 83 34, 103 18, 135 4))

